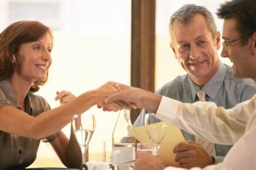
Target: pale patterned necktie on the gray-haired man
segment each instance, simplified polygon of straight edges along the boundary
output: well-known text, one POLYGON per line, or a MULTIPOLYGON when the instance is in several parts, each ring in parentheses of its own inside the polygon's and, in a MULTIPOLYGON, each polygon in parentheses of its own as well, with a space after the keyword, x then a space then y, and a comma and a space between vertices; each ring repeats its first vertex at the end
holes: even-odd
MULTIPOLYGON (((200 101, 206 101, 205 100, 205 92, 203 90, 199 90, 196 95, 198 96, 200 101)), ((197 141, 200 145, 203 146, 203 148, 205 149, 205 151, 211 155, 211 156, 216 156, 216 152, 215 152, 215 146, 214 143, 211 143, 209 141, 206 141, 202 138, 198 138, 196 137, 197 141)))

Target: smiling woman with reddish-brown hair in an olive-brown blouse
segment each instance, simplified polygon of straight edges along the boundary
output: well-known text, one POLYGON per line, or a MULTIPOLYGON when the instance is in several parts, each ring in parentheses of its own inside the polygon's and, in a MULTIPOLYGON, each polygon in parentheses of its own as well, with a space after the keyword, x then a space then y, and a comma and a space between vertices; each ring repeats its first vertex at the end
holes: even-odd
MULTIPOLYGON (((43 138, 51 142, 62 163, 79 167, 81 154, 73 133, 69 140, 60 130, 73 114, 95 104, 102 107, 104 99, 116 92, 112 82, 76 98, 61 91, 56 100, 62 105, 51 109, 33 92, 47 81, 52 46, 51 29, 35 21, 15 22, 0 35, 0 169, 28 167, 43 138)), ((113 104, 112 108, 120 107, 113 104)))

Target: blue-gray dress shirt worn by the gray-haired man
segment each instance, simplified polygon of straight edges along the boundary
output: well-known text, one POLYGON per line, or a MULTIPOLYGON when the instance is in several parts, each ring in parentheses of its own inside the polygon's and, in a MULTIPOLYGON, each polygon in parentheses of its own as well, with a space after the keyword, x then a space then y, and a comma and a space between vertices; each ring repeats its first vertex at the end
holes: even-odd
MULTIPOLYGON (((196 92, 202 89, 206 94, 206 101, 216 103, 218 107, 226 109, 233 108, 242 101, 249 100, 256 92, 255 83, 252 79, 236 79, 232 78, 232 68, 220 62, 219 70, 213 77, 203 86, 197 86, 189 76, 177 76, 174 80, 166 83, 156 94, 170 97, 183 103, 194 103, 198 101, 196 92)), ((145 114, 149 113, 142 110, 133 126, 144 126, 145 114)), ((151 117, 150 122, 160 122, 158 118, 151 117)), ((182 130, 182 134, 186 140, 195 141, 195 135, 189 134, 182 130)), ((230 150, 230 145, 215 144, 216 156, 215 164, 222 162, 226 153, 230 150)))

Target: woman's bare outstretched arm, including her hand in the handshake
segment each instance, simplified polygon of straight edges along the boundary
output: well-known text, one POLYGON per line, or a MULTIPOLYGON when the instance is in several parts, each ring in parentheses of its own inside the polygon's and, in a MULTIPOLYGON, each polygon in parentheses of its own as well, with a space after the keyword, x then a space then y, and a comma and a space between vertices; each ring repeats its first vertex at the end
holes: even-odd
POLYGON ((95 104, 102 107, 104 99, 117 91, 114 84, 114 82, 108 82, 37 117, 32 117, 11 105, 1 107, 0 130, 35 139, 48 137, 68 124, 74 114, 83 113, 95 104))

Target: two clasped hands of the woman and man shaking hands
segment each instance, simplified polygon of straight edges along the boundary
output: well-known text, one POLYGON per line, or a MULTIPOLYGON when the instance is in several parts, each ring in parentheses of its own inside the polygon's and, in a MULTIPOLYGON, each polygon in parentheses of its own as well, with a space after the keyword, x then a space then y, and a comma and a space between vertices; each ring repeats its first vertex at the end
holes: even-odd
POLYGON ((116 82, 107 82, 95 92, 95 104, 103 111, 144 108, 156 113, 161 96, 116 82))

